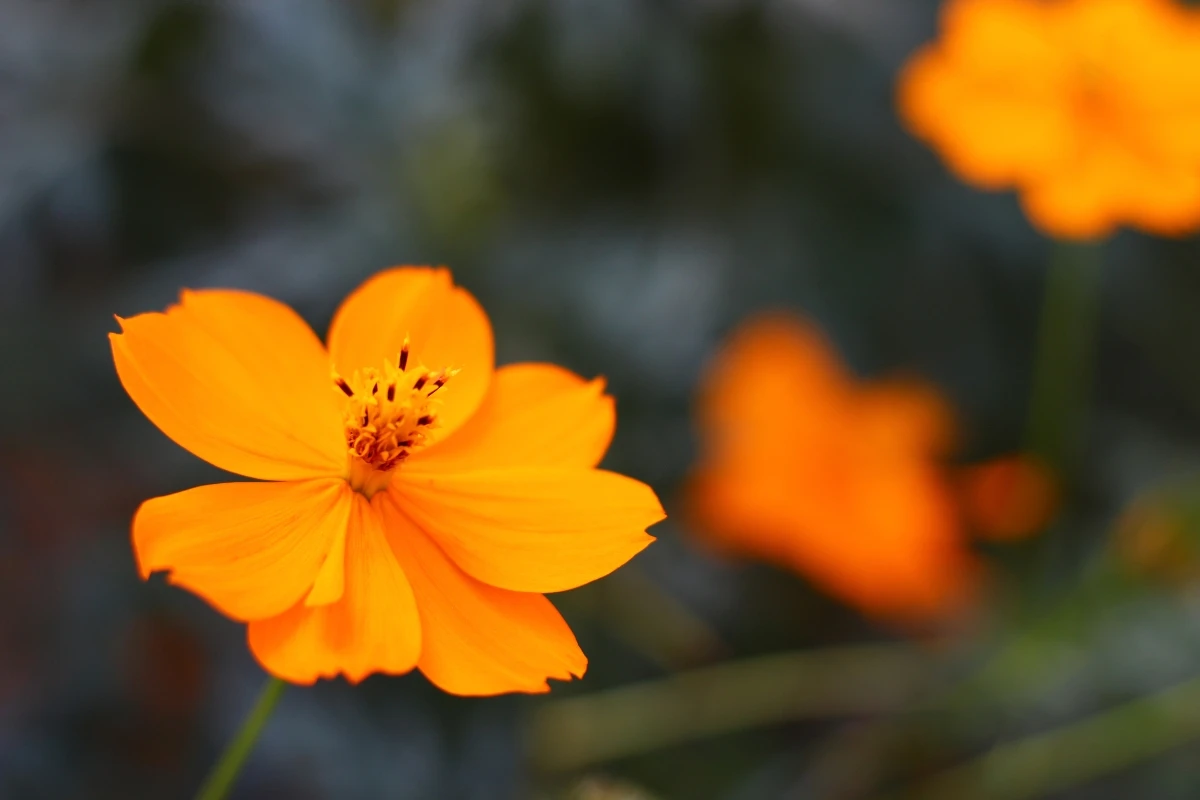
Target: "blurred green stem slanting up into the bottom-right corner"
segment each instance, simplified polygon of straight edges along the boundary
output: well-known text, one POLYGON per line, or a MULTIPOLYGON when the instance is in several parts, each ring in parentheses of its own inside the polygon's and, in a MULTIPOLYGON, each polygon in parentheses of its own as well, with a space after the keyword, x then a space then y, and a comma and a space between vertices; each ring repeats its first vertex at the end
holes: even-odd
POLYGON ((1200 678, 1019 741, 902 798, 1025 800, 1092 781, 1200 738, 1200 678))

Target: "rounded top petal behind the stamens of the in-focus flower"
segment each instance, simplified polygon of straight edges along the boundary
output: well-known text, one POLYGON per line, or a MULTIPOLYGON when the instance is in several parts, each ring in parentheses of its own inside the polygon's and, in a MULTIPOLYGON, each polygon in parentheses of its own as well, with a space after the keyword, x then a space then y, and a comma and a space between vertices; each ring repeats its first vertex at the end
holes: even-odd
POLYGON ((404 338, 410 359, 430 369, 460 369, 438 392, 443 402, 432 439, 446 437, 475 413, 492 380, 492 324, 470 294, 455 287, 449 270, 401 266, 355 289, 329 329, 337 371, 378 367, 396 359, 404 338))

